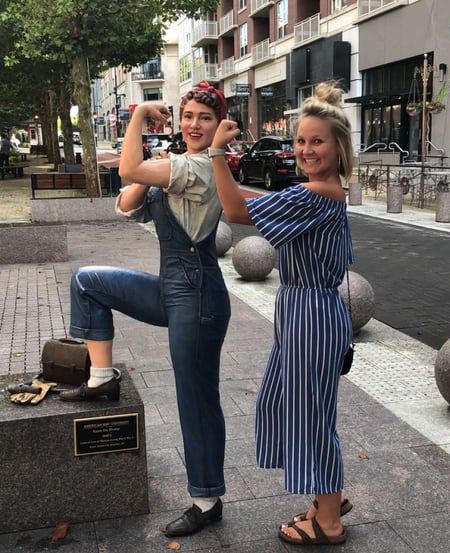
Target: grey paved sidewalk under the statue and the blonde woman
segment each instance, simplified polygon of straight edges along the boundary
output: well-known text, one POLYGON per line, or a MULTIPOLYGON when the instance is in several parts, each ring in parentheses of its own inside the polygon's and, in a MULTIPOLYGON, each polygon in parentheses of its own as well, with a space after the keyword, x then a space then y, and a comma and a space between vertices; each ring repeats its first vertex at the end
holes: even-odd
MULTIPOLYGON (((69 283, 75 267, 114 264, 158 270, 156 238, 141 225, 71 224, 68 243, 68 262, 0 267, 0 289, 5 295, 0 304, 0 367, 6 374, 23 368, 33 371, 43 341, 68 328, 69 283)), ((167 331, 118 315, 114 358, 128 367, 145 405, 150 513, 71 524, 67 538, 58 544, 67 553, 163 553, 173 542, 190 553, 293 551, 278 539, 277 528, 305 510, 309 499, 287 494, 280 470, 258 469, 254 446, 256 394, 272 343, 270 316, 277 275, 257 285, 245 283, 233 273, 229 257, 221 261, 232 294, 221 371, 227 426, 222 522, 177 540, 159 531, 190 503, 167 331)), ((450 444, 448 410, 431 386, 432 353, 377 321, 358 337, 355 364, 341 381, 338 407, 345 489, 355 505, 343 519, 348 541, 342 551, 448 552, 450 456, 443 445, 450 444), (399 379, 393 364, 402 370, 399 379), (411 388, 407 378, 417 381, 422 373, 428 387, 411 388), (393 412, 401 404, 411 404, 409 417, 393 412), (433 409, 428 430, 435 432, 436 442, 408 423, 408 418, 412 424, 418 418, 426 422, 427 406, 433 409), (439 425, 442 430, 437 431, 439 425)), ((45 403, 32 408, 45 409, 45 403)), ((41 446, 51 454, 51 437, 41 446)), ((51 485, 51 475, 47 484, 51 485)), ((0 535, 0 551, 48 550, 52 531, 0 535)))

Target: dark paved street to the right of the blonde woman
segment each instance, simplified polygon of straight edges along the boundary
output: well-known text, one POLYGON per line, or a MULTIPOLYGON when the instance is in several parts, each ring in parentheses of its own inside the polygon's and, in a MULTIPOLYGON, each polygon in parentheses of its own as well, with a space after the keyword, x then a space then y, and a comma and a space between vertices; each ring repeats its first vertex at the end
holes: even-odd
POLYGON ((450 233, 355 214, 350 221, 352 270, 375 291, 374 317, 440 349, 450 338, 450 233))

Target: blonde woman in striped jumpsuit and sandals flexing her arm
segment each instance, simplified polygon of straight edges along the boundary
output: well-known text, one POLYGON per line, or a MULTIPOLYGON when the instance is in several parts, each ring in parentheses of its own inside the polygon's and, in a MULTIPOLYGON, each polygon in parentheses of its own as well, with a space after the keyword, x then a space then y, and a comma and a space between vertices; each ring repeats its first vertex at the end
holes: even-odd
POLYGON ((352 337, 339 294, 352 243, 341 179, 352 174, 350 123, 336 83, 320 83, 300 110, 298 170, 309 182, 245 199, 228 169, 225 145, 240 132, 222 121, 212 142, 219 197, 229 222, 256 225, 278 250, 280 287, 274 344, 256 405, 257 461, 283 468, 285 488, 313 494, 310 508, 279 528, 297 545, 342 544, 344 470, 336 431, 338 385, 352 337))

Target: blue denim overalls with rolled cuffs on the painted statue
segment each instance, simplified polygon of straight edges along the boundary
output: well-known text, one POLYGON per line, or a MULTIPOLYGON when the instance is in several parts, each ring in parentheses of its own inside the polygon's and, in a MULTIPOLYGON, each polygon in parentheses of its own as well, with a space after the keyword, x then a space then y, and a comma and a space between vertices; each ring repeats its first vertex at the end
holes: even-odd
POLYGON ((225 493, 220 351, 230 318, 216 256, 218 221, 209 236, 195 244, 162 189, 151 189, 147 202, 160 243, 159 277, 112 267, 78 269, 71 282, 70 334, 112 340, 111 310, 168 327, 188 491, 192 497, 218 497, 225 493))

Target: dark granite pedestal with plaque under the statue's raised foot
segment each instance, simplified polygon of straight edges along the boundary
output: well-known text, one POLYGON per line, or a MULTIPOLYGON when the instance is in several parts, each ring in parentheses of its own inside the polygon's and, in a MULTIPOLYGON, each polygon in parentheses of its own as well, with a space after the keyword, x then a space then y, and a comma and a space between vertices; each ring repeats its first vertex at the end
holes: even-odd
POLYGON ((0 377, 0 533, 149 512, 144 406, 121 369, 117 402, 16 405, 24 375, 0 377))

